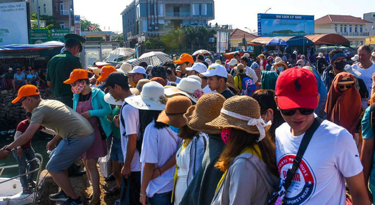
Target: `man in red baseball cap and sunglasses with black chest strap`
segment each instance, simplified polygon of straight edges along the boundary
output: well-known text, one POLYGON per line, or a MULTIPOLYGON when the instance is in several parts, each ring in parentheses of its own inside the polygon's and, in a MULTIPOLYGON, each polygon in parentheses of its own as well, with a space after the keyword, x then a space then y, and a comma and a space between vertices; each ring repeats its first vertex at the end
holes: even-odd
POLYGON ((275 133, 284 202, 345 204, 347 181, 353 204, 369 204, 353 136, 314 114, 319 101, 314 74, 298 67, 285 70, 276 81, 275 101, 286 122, 275 133))

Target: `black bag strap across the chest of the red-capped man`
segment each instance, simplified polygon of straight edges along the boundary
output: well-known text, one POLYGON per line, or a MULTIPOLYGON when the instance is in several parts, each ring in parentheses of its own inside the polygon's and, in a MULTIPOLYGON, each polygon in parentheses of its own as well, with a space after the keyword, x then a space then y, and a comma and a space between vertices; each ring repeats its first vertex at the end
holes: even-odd
POLYGON ((308 128, 305 135, 302 138, 301 145, 299 145, 299 149, 297 152, 296 158, 294 158, 292 168, 288 170, 287 177, 285 177, 283 187, 285 188, 285 192, 290 187, 290 184, 292 183, 292 179, 294 174, 297 172, 297 168, 299 167, 299 163, 301 163, 301 159, 303 157, 303 154, 305 154, 305 151, 308 147, 308 144, 310 143, 311 138, 313 138, 313 135, 315 131, 317 131, 320 124, 322 124, 323 120, 319 117, 315 117, 315 120, 313 124, 308 128))

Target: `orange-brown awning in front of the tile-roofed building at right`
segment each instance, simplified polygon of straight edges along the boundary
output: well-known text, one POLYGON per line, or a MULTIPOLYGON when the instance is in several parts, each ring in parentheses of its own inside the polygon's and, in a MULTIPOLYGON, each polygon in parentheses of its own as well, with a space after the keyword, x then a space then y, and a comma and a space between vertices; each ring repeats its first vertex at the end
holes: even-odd
POLYGON ((306 35, 306 38, 313 41, 315 45, 350 45, 350 42, 349 40, 347 40, 347 38, 344 38, 344 36, 335 33, 306 35))

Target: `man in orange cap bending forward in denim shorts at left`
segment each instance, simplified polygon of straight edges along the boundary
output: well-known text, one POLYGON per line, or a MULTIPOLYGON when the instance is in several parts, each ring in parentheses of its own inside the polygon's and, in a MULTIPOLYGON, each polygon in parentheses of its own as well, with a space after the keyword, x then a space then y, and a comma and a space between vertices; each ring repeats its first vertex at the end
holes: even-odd
MULTIPOLYGON (((88 120, 65 104, 56 100, 44 100, 40 98, 40 92, 35 85, 24 85, 19 89, 17 98, 13 104, 21 102, 22 106, 33 113, 30 125, 17 140, 7 145, 4 149, 11 151, 15 147, 24 145, 30 140, 40 125, 48 127, 58 133, 47 144, 47 149, 52 150, 60 141, 56 149, 53 149, 51 158, 46 169, 49 170, 53 181, 68 196, 64 204, 82 204, 81 197, 78 197, 72 188, 67 176, 67 168, 76 161, 83 152, 89 149, 94 142, 94 129, 88 120)), ((60 199, 63 193, 50 195, 50 199, 60 199)), ((66 199, 66 198, 65 198, 66 199)))

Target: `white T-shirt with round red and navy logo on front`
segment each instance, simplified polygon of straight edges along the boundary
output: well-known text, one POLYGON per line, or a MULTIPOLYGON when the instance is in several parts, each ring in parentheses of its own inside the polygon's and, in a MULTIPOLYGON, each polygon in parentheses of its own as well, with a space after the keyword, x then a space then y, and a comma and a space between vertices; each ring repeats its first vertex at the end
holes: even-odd
MULTIPOLYGON (((304 133, 292 136, 285 122, 275 134, 278 173, 283 180, 304 133)), ((342 126, 324 120, 303 155, 285 200, 287 204, 345 204, 344 177, 356 176, 362 170, 353 136, 342 126)))

